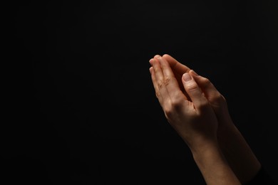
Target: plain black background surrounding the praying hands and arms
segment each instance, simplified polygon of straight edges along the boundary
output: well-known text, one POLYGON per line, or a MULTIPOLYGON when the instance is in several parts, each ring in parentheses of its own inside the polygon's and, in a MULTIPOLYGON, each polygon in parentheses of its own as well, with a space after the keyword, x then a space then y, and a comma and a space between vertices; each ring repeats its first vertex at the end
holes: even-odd
POLYGON ((11 4, 9 181, 205 184, 155 97, 168 53, 210 78, 277 180, 277 1, 11 4))

